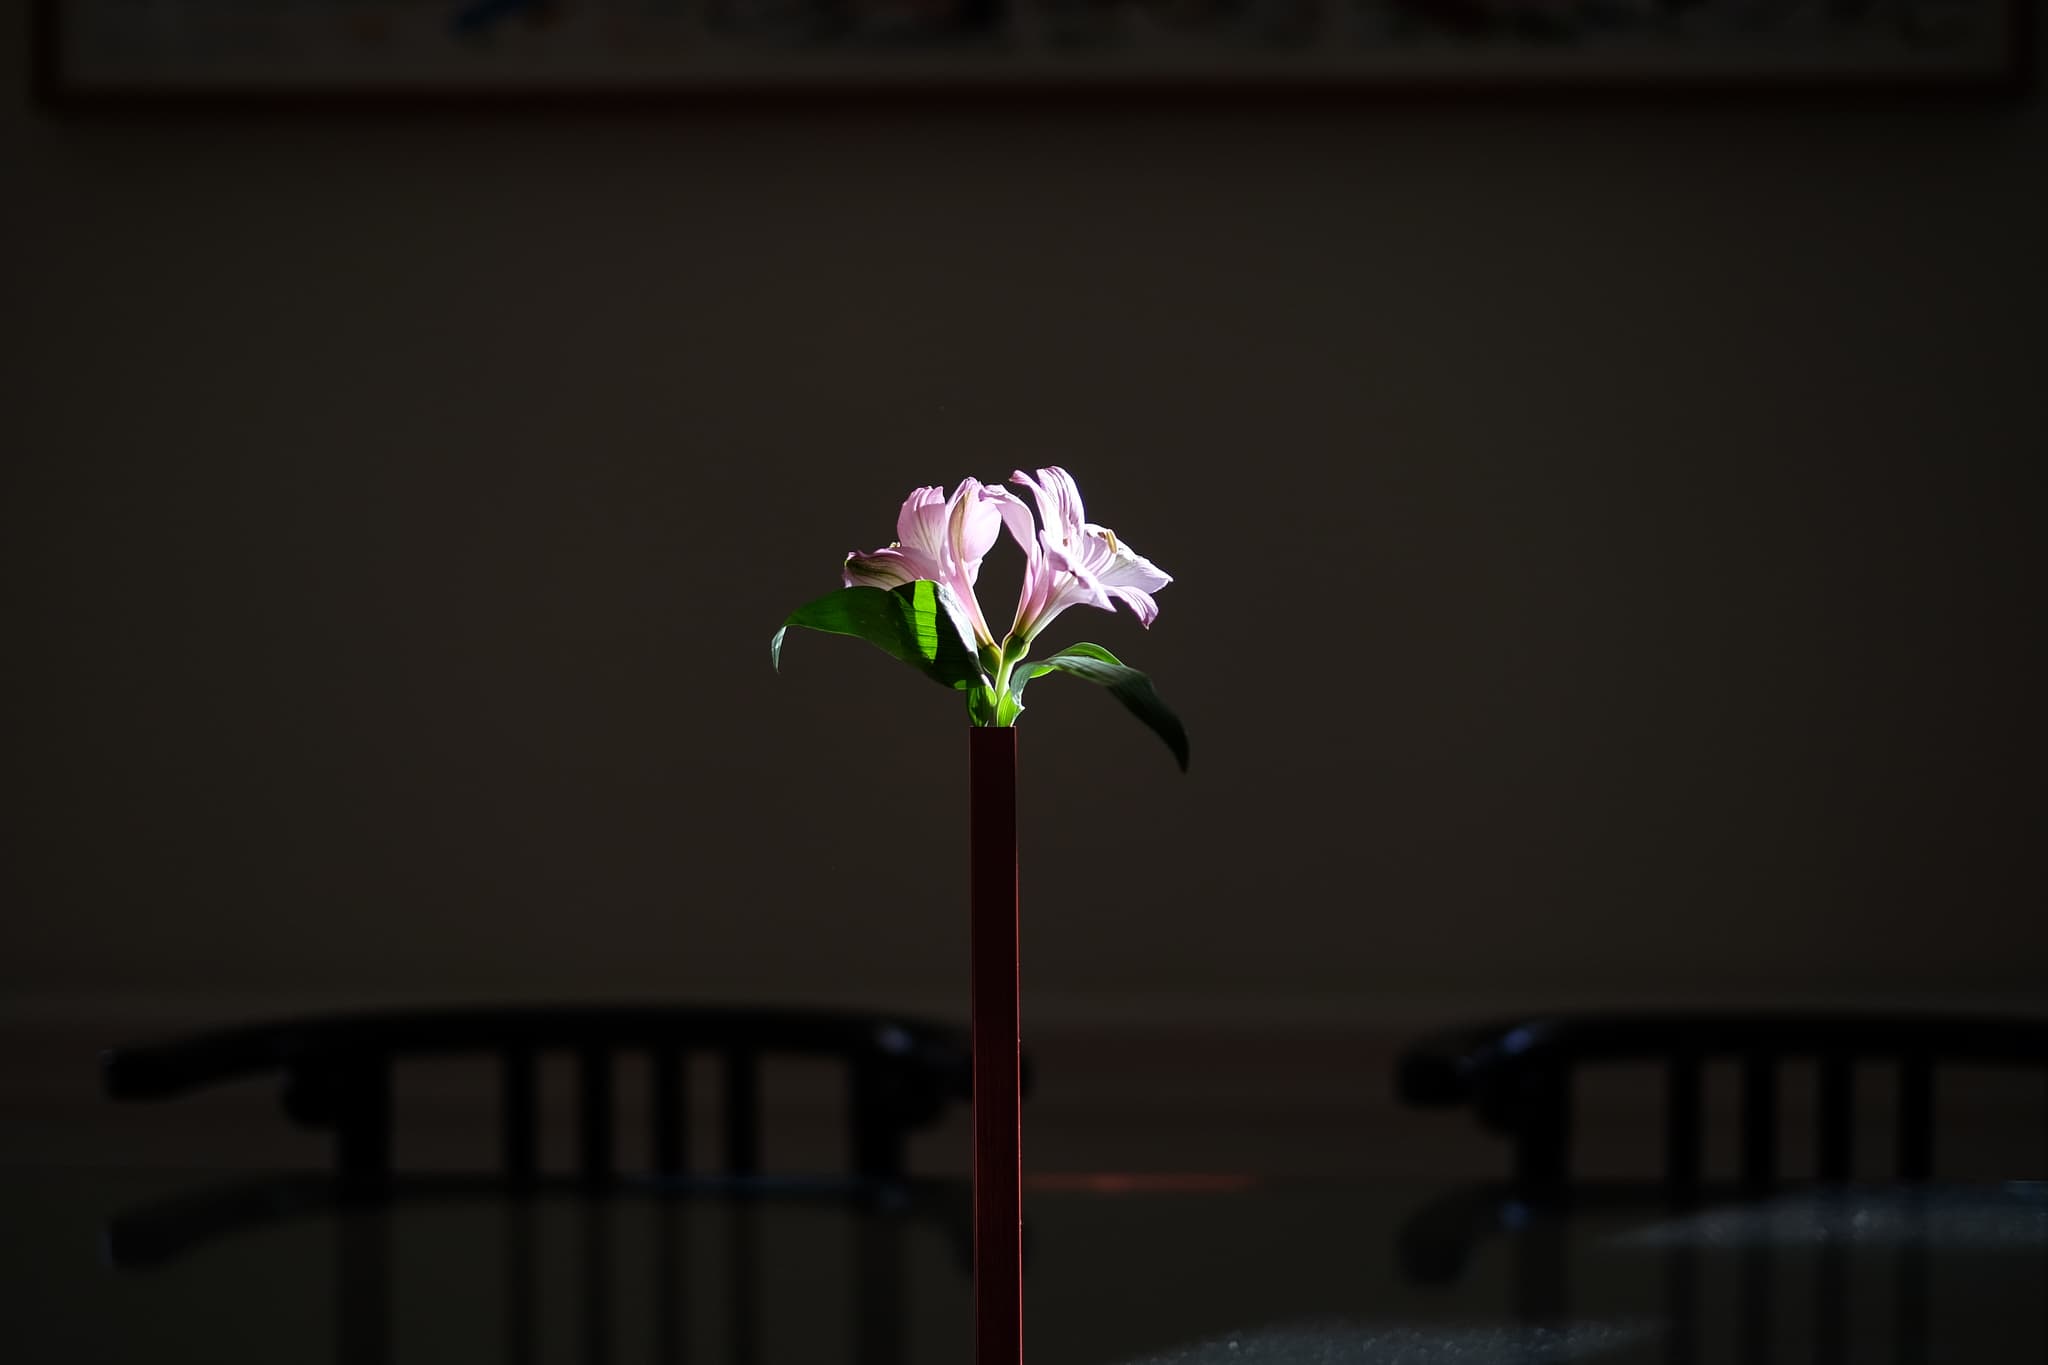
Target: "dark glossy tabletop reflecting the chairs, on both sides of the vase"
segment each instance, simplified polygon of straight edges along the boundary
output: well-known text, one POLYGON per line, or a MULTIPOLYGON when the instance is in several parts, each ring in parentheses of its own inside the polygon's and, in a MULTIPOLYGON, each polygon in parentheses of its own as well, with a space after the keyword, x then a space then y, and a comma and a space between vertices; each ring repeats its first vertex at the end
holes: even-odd
MULTIPOLYGON (((0 1169, 10 1361, 963 1365, 965 1189, 604 1197, 0 1169), (23 1347, 27 1351, 23 1353, 23 1347)), ((1540 1212, 1479 1187, 1040 1177, 1036 1365, 2048 1361, 2048 1185, 1540 1212)))

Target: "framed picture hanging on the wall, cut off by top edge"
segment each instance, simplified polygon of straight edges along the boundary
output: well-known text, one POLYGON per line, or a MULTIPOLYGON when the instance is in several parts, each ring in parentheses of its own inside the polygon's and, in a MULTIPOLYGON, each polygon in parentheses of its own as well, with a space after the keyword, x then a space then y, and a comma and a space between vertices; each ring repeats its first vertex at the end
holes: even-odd
POLYGON ((37 0, 55 104, 2013 90, 2034 0, 37 0))

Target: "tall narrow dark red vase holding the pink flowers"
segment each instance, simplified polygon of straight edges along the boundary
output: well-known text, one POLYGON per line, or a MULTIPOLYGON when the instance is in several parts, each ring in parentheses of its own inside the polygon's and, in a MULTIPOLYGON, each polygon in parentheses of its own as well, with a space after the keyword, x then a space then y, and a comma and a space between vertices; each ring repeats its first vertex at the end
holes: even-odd
POLYGON ((975 1365, 1024 1361, 1018 733, 967 731, 975 1054, 975 1365))

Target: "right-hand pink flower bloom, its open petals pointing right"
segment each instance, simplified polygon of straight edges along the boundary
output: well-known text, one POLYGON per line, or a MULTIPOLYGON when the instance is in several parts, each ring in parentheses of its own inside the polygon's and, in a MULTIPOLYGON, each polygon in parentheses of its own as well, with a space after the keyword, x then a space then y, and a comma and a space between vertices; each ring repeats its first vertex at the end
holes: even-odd
POLYGON ((1116 602, 1124 602, 1141 626, 1151 626, 1159 616, 1159 604, 1151 596, 1171 583, 1171 575, 1118 540, 1108 526, 1087 520, 1073 475, 1055 465, 1032 479, 1020 469, 1010 475, 1010 483, 1032 491, 1042 524, 1032 536, 1022 501, 1010 497, 995 505, 1026 557, 1012 639, 1030 641, 1069 606, 1114 612, 1116 602))

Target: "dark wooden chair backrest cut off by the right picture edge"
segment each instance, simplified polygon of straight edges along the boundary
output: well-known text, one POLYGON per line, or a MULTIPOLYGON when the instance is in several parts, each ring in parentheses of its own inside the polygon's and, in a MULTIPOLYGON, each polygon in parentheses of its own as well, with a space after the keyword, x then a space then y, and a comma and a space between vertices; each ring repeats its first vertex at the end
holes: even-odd
POLYGON ((1456 1029, 1411 1046, 1397 1070, 1403 1101, 1470 1107, 1483 1126, 1516 1144, 1516 1185, 1548 1193, 1569 1181, 1571 1076, 1587 1062, 1661 1062, 1665 1185, 1700 1185, 1702 1068, 1741 1066, 1743 1185, 1778 1183, 1778 1070, 1815 1060, 1821 1181, 1847 1181, 1853 1148, 1853 1066, 1898 1066, 1898 1179, 1933 1175, 1937 1064, 2038 1066, 2048 1070, 2048 1019, 2001 1015, 1874 1013, 1642 1013, 1530 1015, 1456 1029))

